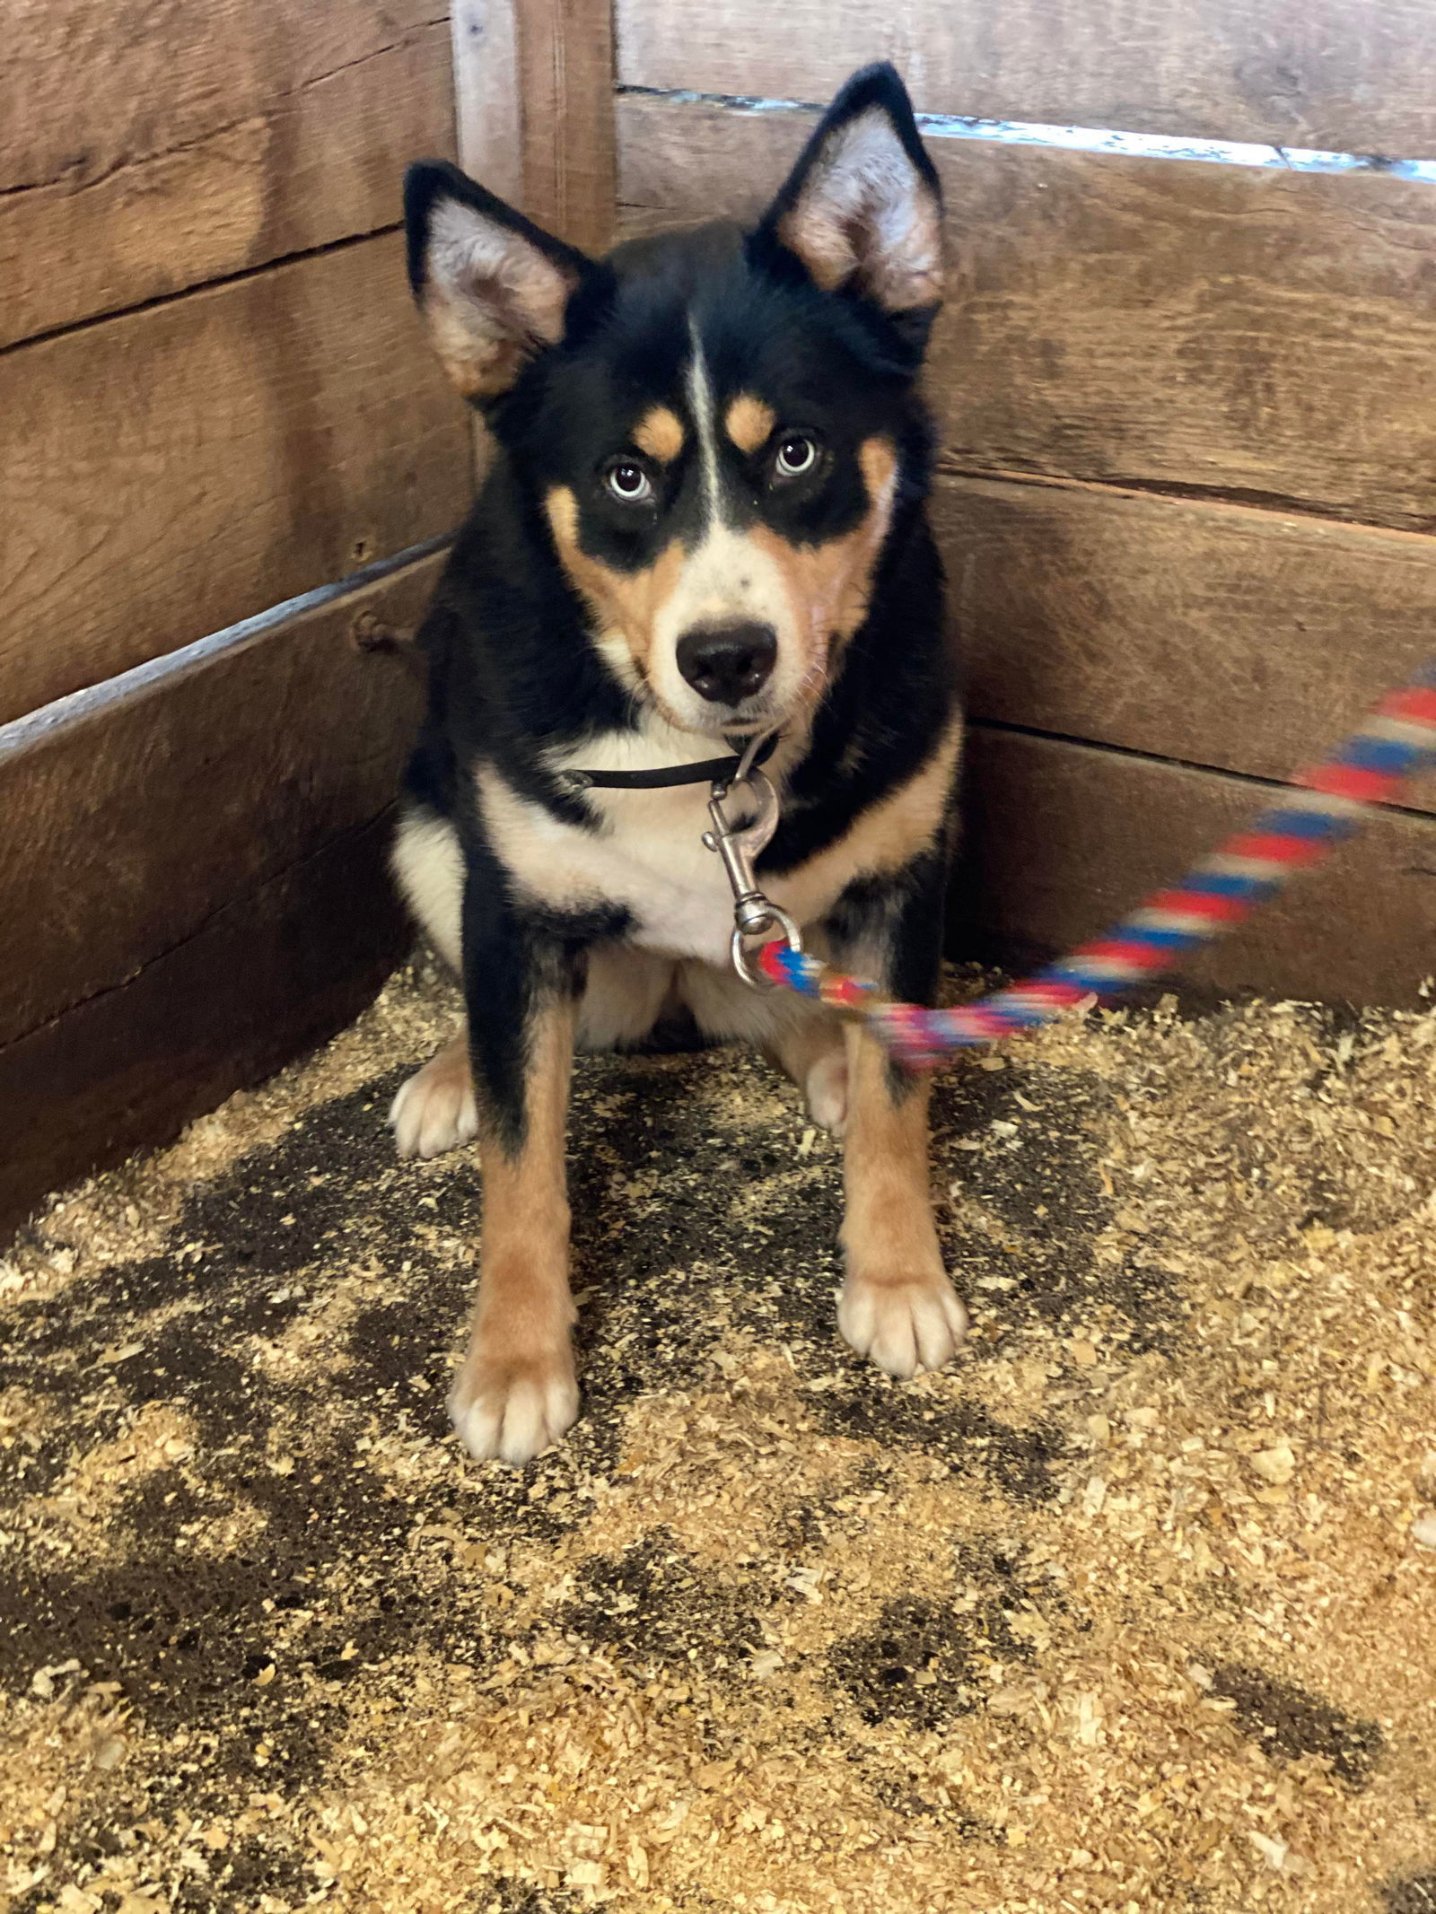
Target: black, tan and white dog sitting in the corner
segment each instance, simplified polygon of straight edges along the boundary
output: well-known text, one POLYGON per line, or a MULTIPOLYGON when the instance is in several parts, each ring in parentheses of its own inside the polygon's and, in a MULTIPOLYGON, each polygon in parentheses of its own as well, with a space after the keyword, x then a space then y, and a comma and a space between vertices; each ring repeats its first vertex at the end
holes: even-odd
POLYGON ((571 1058, 672 1013, 760 1045, 844 1135, 839 1328, 894 1376, 938 1369, 967 1317, 925 1089, 733 972, 703 842, 714 754, 762 739, 781 800, 764 894, 808 947, 934 1001, 961 708, 917 394, 942 203, 904 84, 854 75, 747 230, 590 258, 437 161, 408 170, 406 230, 431 341, 494 442, 419 634, 394 846, 467 1011, 391 1112, 402 1156, 479 1139, 454 1424, 521 1464, 574 1422, 571 1058))

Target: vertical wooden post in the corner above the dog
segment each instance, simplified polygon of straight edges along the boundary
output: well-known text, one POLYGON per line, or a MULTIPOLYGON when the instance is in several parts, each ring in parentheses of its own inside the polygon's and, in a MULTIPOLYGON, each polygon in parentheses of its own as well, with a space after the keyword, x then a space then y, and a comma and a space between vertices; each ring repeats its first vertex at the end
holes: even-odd
POLYGON ((454 82, 463 167, 601 253, 615 214, 611 0, 456 0, 454 82))

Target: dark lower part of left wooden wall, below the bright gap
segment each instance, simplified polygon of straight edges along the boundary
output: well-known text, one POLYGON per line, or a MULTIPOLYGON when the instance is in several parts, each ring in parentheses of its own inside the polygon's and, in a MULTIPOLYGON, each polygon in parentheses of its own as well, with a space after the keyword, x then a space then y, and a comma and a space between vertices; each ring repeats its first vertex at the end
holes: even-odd
POLYGON ((0 733, 0 1231, 322 1041, 387 873, 442 555, 0 733))

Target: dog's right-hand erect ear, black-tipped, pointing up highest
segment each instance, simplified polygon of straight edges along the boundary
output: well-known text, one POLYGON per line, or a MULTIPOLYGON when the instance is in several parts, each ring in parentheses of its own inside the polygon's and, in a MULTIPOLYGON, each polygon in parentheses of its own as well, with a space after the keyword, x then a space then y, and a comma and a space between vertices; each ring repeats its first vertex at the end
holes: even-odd
POLYGON ((854 73, 758 228, 823 291, 850 287, 885 312, 942 300, 942 189, 894 67, 854 73))

